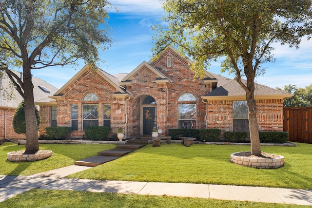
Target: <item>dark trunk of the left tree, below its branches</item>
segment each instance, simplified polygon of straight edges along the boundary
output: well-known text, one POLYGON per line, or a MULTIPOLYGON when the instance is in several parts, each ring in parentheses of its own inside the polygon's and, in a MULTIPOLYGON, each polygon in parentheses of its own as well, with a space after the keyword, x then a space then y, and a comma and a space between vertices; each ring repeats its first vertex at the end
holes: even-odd
POLYGON ((38 128, 35 113, 34 101, 34 85, 28 69, 23 69, 23 84, 24 84, 24 100, 25 100, 25 121, 26 121, 26 151, 24 154, 34 154, 39 151, 38 128))

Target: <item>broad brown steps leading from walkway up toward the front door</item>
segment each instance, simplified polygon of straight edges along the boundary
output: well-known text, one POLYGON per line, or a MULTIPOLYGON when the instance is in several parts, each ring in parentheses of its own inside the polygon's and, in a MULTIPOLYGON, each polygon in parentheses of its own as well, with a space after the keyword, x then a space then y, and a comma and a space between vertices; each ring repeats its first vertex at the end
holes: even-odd
POLYGON ((117 158, 144 147, 149 143, 148 139, 131 139, 126 144, 116 145, 115 149, 100 151, 98 156, 89 157, 75 162, 78 166, 96 167, 106 162, 116 160, 117 158))

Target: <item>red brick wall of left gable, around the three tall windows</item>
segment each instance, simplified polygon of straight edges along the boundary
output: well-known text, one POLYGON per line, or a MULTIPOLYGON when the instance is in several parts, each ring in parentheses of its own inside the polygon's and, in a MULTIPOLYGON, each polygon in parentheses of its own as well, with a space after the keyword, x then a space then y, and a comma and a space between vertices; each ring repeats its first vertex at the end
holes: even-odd
MULTIPOLYGON (((113 132, 117 132, 119 127, 125 128, 125 99, 114 97, 115 88, 99 76, 94 70, 87 70, 78 79, 71 84, 66 90, 63 100, 58 100, 58 126, 71 126, 71 105, 78 104, 78 131, 71 133, 71 137, 82 138, 84 132, 82 131, 82 105, 83 103, 98 104, 98 125, 103 125, 103 107, 104 103, 111 104, 111 127, 113 132), (83 98, 89 93, 95 93, 98 96, 98 101, 85 101, 83 98), (119 104, 119 108, 115 103, 119 104), (118 108, 118 109, 117 109, 118 108)), ((42 119, 43 128, 40 127, 40 134, 45 133, 45 127, 50 126, 51 107, 40 107, 40 115, 45 118, 42 119)))

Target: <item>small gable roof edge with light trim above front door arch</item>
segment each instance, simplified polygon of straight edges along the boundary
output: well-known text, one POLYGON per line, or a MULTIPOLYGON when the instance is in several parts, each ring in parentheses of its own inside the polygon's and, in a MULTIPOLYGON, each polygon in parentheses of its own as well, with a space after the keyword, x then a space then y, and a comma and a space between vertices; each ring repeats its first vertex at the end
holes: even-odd
POLYGON ((156 74, 156 82, 158 80, 158 82, 169 82, 169 83, 172 83, 172 80, 170 80, 167 76, 165 76, 164 74, 159 72, 157 69, 155 69, 150 64, 148 64, 145 61, 143 61, 131 73, 127 74, 123 79, 121 79, 121 81, 119 82, 119 85, 130 85, 133 76, 135 76, 137 74, 137 72, 139 70, 141 70, 142 67, 144 67, 144 66, 147 67, 149 70, 151 70, 153 73, 156 74))

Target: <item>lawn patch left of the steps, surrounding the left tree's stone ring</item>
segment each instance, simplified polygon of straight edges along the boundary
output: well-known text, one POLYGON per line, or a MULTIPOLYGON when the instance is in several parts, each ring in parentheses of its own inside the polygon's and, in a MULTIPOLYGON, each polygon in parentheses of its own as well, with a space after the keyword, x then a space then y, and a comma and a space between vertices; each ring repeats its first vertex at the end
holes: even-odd
POLYGON ((32 175, 74 165, 74 162, 77 160, 95 156, 98 154, 98 151, 113 149, 115 146, 108 144, 40 144, 40 150, 53 151, 51 157, 36 162, 15 163, 7 161, 6 154, 10 151, 25 150, 25 145, 5 142, 0 145, 0 175, 32 175))

